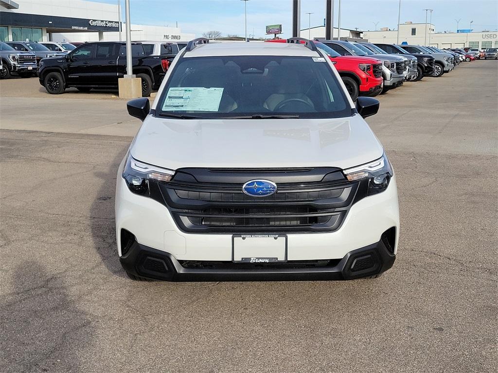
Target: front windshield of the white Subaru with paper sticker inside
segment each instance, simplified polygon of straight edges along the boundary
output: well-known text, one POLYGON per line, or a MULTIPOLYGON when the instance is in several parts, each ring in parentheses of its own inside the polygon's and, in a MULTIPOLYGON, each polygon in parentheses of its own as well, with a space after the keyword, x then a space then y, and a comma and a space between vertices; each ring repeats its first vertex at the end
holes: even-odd
POLYGON ((178 60, 156 113, 335 118, 350 116, 352 110, 323 57, 214 56, 178 60))

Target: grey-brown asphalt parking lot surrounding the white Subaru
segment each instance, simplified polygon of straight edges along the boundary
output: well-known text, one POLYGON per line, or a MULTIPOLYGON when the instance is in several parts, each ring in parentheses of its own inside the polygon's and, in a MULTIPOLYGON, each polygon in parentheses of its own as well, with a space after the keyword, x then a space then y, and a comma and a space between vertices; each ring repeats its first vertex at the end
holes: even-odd
POLYGON ((115 93, 0 82, 0 372, 496 372, 498 64, 378 96, 401 235, 379 279, 128 280, 115 93))

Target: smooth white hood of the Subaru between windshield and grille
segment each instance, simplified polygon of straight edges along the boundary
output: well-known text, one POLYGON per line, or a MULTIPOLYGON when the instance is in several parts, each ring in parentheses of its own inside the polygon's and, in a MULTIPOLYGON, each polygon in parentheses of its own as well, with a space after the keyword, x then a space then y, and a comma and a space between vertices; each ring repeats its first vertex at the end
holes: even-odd
POLYGON ((356 114, 337 119, 170 119, 147 116, 131 144, 136 160, 172 170, 361 165, 382 146, 356 114))

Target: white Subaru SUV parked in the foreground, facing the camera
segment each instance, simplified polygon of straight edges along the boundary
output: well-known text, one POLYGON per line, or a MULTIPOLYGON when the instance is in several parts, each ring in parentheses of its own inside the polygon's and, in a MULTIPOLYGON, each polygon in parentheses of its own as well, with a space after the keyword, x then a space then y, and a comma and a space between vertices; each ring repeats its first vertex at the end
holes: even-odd
POLYGON ((209 43, 176 56, 118 170, 133 280, 350 280, 394 263, 396 180, 315 43, 209 43), (304 44, 301 44, 303 43, 304 44))

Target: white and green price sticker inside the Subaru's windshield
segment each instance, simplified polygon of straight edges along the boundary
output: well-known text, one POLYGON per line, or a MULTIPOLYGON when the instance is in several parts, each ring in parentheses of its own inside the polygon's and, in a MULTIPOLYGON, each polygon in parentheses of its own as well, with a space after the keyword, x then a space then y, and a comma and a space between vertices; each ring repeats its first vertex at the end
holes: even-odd
POLYGON ((222 95, 223 88, 170 88, 162 105, 162 110, 218 111, 222 95))

